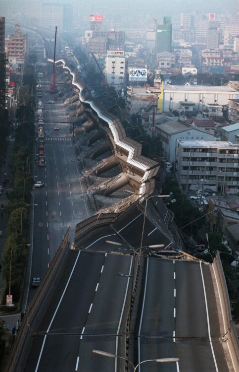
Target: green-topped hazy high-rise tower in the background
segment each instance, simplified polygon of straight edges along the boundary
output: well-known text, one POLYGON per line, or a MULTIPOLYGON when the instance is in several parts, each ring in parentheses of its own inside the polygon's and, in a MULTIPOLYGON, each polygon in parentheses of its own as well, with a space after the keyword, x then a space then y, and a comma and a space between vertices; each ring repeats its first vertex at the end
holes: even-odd
POLYGON ((171 52, 172 23, 171 17, 163 17, 163 24, 157 25, 156 53, 171 52))

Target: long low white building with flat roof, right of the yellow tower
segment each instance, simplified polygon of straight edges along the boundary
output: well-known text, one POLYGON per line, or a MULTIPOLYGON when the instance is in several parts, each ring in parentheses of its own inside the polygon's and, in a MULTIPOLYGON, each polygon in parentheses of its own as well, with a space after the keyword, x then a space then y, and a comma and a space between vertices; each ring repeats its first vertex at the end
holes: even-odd
MULTIPOLYGON (((194 105, 194 109, 202 111, 206 104, 228 105, 229 99, 237 99, 238 91, 229 86, 209 85, 164 85, 161 95, 162 110, 180 110, 182 105, 194 105)), ((189 108, 187 109, 189 110, 189 108)))

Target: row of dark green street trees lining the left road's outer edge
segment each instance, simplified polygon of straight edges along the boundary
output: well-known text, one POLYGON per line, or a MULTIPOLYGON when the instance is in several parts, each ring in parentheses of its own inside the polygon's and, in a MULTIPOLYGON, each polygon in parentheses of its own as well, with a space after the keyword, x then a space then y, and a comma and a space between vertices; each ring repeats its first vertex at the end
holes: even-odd
MULTIPOLYGON (((13 189, 8 194, 9 204, 5 208, 8 214, 7 239, 2 251, 2 275, 6 282, 8 294, 11 250, 28 243, 29 208, 33 179, 28 178, 27 158, 33 153, 35 140, 34 126, 34 69, 28 65, 23 74, 23 86, 20 88, 16 118, 20 123, 16 129, 15 142, 10 155, 9 165, 13 175, 13 189), (24 188, 25 182, 25 190, 24 188), (23 194, 24 197, 23 197, 23 194)), ((27 259, 27 246, 21 246, 12 252, 11 294, 18 301, 22 287, 23 275, 27 259)))

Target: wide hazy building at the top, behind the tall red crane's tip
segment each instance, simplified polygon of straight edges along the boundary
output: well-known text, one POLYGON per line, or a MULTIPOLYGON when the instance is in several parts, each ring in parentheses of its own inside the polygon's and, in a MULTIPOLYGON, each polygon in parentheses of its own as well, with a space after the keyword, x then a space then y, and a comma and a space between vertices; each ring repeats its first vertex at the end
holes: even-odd
POLYGON ((57 26, 59 31, 72 30, 73 10, 71 4, 42 2, 40 12, 40 25, 54 31, 57 26))

